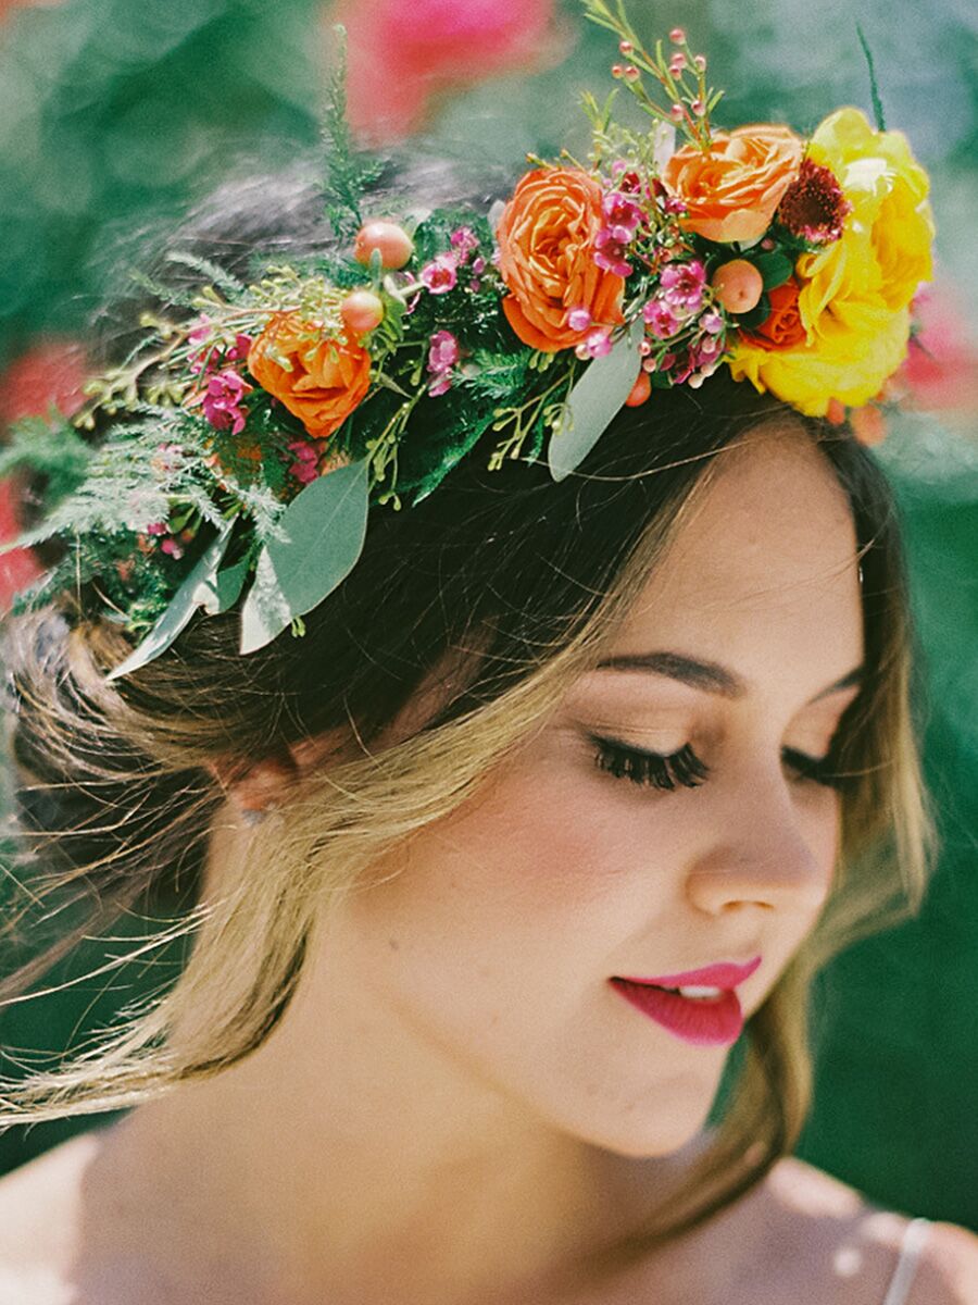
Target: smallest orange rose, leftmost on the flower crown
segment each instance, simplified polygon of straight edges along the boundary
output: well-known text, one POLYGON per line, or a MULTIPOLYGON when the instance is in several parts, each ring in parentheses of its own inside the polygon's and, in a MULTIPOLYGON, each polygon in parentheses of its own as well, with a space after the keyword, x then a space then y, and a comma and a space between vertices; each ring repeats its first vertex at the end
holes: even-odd
POLYGON ((299 313, 275 313, 248 351, 256 381, 322 440, 338 429, 370 388, 370 355, 356 343, 321 339, 299 313), (288 359, 292 371, 279 361, 288 359))

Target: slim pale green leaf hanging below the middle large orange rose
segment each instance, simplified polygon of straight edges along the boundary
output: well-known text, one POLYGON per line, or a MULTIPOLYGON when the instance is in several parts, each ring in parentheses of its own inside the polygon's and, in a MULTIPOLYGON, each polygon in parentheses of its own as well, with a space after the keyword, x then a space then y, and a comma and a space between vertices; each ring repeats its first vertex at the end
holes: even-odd
POLYGON ((567 395, 548 450, 554 480, 563 480, 580 466, 631 393, 639 375, 642 330, 640 321, 632 322, 610 354, 588 363, 567 395))

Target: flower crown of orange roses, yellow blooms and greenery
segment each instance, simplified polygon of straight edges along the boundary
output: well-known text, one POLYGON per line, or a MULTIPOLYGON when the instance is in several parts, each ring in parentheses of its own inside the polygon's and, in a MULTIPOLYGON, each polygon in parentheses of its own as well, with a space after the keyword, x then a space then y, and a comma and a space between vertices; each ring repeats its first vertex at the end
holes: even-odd
POLYGON ((171 256, 205 281, 189 298, 154 287, 177 320, 145 315, 72 422, 14 431, 0 474, 39 468, 50 504, 20 543, 69 545, 27 600, 90 581, 141 639, 112 676, 198 609, 240 607, 243 652, 301 634, 355 565, 369 505, 416 504, 489 435, 490 468, 545 455, 559 480, 623 405, 720 367, 836 420, 880 397, 931 275, 928 180, 905 137, 855 108, 807 140, 716 130, 722 93, 681 29, 649 51, 621 3, 584 8, 618 38, 612 73, 651 129, 613 119, 614 90, 585 94, 585 161, 531 157, 485 215, 369 217, 379 168, 352 149, 340 67, 338 252, 249 284, 171 256), (115 420, 94 444, 80 431, 100 414, 115 420))

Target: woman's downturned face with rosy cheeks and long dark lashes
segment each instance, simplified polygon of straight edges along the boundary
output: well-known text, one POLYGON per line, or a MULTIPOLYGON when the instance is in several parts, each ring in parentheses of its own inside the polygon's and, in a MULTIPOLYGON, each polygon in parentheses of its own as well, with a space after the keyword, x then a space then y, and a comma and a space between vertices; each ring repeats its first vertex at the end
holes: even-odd
POLYGON ((625 1155, 703 1126, 737 1002, 613 980, 760 958, 735 989, 758 1009, 829 890, 838 793, 811 762, 862 662, 855 536, 822 454, 768 425, 715 471, 608 664, 338 921, 390 1021, 625 1155))

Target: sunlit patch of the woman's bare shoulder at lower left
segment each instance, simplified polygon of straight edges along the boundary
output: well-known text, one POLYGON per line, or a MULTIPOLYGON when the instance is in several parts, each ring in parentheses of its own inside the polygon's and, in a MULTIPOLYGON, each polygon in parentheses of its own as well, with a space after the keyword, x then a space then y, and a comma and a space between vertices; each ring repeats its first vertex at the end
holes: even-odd
POLYGON ((0 1300, 68 1305, 70 1265, 82 1237, 85 1173, 98 1131, 63 1142, 0 1180, 0 1300))

